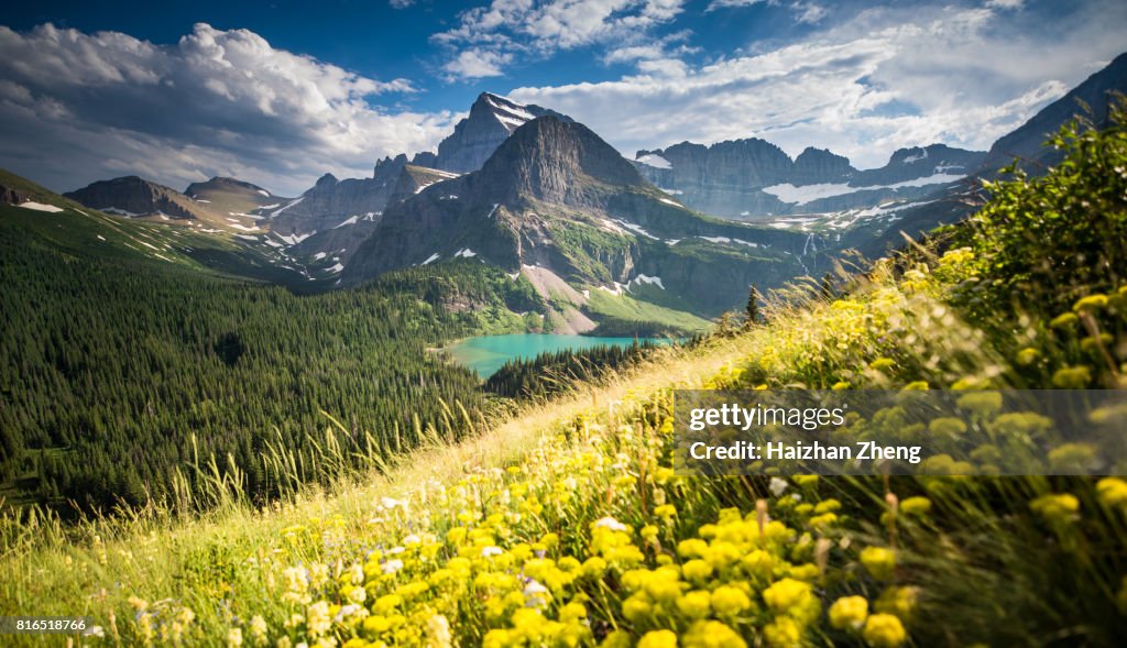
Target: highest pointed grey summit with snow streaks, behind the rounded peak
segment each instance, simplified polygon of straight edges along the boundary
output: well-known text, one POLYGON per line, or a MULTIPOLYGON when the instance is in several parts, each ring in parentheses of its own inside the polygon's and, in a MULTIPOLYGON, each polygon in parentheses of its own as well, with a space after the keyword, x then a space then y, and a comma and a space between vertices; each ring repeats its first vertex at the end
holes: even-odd
POLYGON ((514 131, 529 121, 545 115, 570 121, 548 108, 523 106, 504 97, 482 92, 470 107, 470 116, 459 122, 454 126, 454 133, 438 144, 438 154, 433 163, 427 163, 432 162, 427 158, 429 153, 420 153, 421 158, 416 156, 414 162, 455 174, 476 171, 514 131))

